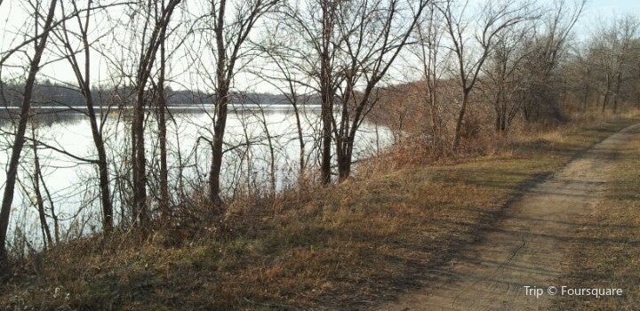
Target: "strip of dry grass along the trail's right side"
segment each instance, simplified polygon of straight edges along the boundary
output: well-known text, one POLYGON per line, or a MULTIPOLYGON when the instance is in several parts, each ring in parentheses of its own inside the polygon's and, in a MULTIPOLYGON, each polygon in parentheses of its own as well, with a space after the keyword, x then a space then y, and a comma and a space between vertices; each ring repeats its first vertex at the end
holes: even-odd
POLYGON ((588 242, 571 260, 564 284, 620 288, 623 297, 562 297, 560 310, 637 310, 640 306, 640 140, 621 151, 610 172, 607 195, 575 238, 588 242))

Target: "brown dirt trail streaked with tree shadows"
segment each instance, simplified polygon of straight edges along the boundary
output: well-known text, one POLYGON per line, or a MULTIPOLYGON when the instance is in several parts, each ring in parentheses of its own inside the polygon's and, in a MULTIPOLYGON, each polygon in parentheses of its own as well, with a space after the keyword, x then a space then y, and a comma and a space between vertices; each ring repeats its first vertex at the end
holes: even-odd
POLYGON ((629 126, 589 149, 555 176, 533 187, 468 245, 449 267, 429 275, 428 288, 410 292, 381 310, 540 310, 554 296, 526 295, 524 286, 547 291, 563 282, 586 217, 602 205, 616 155, 640 138, 629 126))

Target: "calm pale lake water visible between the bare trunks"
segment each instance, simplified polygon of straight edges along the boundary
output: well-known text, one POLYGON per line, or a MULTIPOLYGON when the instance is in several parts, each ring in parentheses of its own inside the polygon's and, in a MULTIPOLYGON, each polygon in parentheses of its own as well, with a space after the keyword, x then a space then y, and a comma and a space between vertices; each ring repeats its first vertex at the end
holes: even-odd
MULTIPOLYGON (((319 110, 307 108, 302 116, 304 140, 306 142, 306 161, 311 168, 317 167, 317 140, 314 133, 319 129, 319 110)), ((129 167, 126 150, 130 140, 130 130, 125 125, 124 112, 109 114, 104 126, 108 159, 111 165, 112 191, 116 187, 126 189, 127 185, 116 183, 116 179, 126 176, 129 167)), ((207 179, 211 148, 207 140, 212 137, 212 118, 202 109, 191 111, 172 111, 168 116, 168 149, 170 165, 170 187, 173 193, 184 189, 187 193, 199 191, 207 179), (180 178, 181 177, 181 178, 180 178)), ((4 123, 5 130, 11 131, 11 125, 4 123)), ((148 171, 152 175, 158 168, 156 123, 154 116, 148 116, 146 147, 148 153, 148 171)), ((28 135, 33 133, 29 129, 28 135)), ((64 113, 57 116, 43 115, 35 126, 36 139, 45 144, 64 149, 66 152, 83 158, 96 158, 92 142, 91 128, 87 118, 80 113, 64 113)), ((298 178, 300 168, 300 145, 296 129, 295 116, 286 108, 271 108, 260 111, 252 109, 228 116, 225 134, 226 153, 221 172, 222 187, 226 195, 234 195, 246 188, 270 187, 271 155, 268 138, 274 148, 276 167, 276 187, 282 189, 292 185, 298 178)), ((0 163, 6 164, 12 136, 0 136, 4 151, 0 153, 0 163)), ((356 138, 354 160, 372 156, 380 148, 388 146, 388 130, 373 124, 363 124, 356 138)), ((100 227, 100 203, 97 187, 96 167, 52 149, 38 148, 38 156, 44 173, 45 186, 52 196, 52 202, 60 219, 61 232, 72 235, 84 234, 100 227)), ((27 231, 32 243, 40 243, 41 235, 33 194, 33 149, 26 146, 23 152, 20 171, 20 183, 16 185, 10 232, 16 228, 27 231)), ((4 172, 0 182, 4 185, 4 172)), ((153 179, 150 179, 149 195, 153 195, 153 179)), ((45 206, 49 203, 44 187, 45 206)), ((116 221, 127 217, 120 207, 121 199, 115 195, 116 221)), ((174 197, 174 200, 176 198, 174 197)), ((50 220, 50 227, 52 221, 50 220)), ((52 229, 53 230, 53 229, 52 229)), ((9 241, 10 245, 12 241, 9 241)))

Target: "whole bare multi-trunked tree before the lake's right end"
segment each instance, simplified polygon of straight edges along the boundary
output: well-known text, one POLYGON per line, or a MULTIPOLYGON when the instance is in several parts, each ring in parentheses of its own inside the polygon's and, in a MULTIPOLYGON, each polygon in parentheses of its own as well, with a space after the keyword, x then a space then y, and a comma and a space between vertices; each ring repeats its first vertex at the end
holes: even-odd
POLYGON ((306 44, 288 57, 287 66, 304 68, 300 72, 307 73, 322 104, 323 184, 331 181, 333 142, 339 179, 349 176, 356 132, 378 101, 376 87, 408 43, 427 4, 320 0, 284 5, 284 36, 302 36, 306 44))

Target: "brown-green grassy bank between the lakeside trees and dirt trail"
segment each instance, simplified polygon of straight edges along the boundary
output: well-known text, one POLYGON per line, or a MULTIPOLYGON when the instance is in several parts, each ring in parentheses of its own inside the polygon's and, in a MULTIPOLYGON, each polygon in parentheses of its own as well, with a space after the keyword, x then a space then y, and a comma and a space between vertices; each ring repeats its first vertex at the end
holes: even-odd
POLYGON ((456 163, 379 159, 387 169, 339 186, 235 206, 182 243, 121 233, 60 245, 21 264, 0 308, 371 307, 420 286, 532 180, 631 123, 516 135, 456 163))

